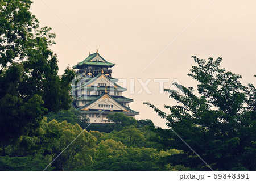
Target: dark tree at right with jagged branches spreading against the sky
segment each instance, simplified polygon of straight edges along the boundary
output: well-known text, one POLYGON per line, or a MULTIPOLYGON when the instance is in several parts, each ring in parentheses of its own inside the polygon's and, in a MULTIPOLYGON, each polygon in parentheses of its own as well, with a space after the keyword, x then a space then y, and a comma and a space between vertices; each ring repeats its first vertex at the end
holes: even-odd
MULTIPOLYGON (((192 66, 188 74, 198 82, 197 93, 193 87, 181 87, 170 92, 177 103, 167 106, 170 113, 144 103, 165 118, 183 140, 200 155, 213 169, 255 170, 256 140, 256 89, 250 83, 243 86, 241 75, 220 68, 221 57, 208 61, 193 56, 197 66, 192 66)), ((165 148, 184 150, 183 154, 167 157, 171 165, 184 163, 184 166, 207 169, 195 153, 169 130, 155 129, 165 148)))

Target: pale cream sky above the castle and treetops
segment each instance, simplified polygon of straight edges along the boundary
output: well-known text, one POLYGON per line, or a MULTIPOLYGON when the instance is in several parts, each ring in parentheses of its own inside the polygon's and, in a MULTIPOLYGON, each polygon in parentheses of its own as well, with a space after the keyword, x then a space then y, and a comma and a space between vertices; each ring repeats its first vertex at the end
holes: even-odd
POLYGON ((222 57, 222 68, 241 74, 244 84, 256 85, 256 1, 211 2, 35 0, 31 11, 41 26, 52 27, 52 33, 56 33, 57 44, 52 50, 58 56, 60 74, 98 48, 105 60, 115 63, 112 77, 127 79, 128 85, 135 80, 135 93, 131 94, 128 86, 123 96, 134 99, 130 107, 140 112, 136 119, 151 119, 164 127, 143 102, 162 110, 164 104, 175 104, 167 93, 159 94, 159 83, 154 79, 169 80, 164 88, 170 88, 175 78, 184 86, 196 88, 196 82, 187 77, 194 65, 193 55, 222 57), (148 89, 152 94, 137 94, 142 88, 138 79, 151 79, 148 89))

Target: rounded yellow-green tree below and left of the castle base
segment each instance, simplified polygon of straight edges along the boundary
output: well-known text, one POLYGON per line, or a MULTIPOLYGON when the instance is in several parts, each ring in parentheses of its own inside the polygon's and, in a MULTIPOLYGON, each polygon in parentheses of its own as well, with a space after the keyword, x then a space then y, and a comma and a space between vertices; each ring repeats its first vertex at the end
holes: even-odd
POLYGON ((67 121, 57 123, 56 120, 52 120, 48 123, 48 129, 50 132, 56 132, 56 130, 60 132, 60 137, 53 139, 51 142, 51 154, 58 155, 66 148, 55 162, 53 162, 56 170, 89 169, 90 165, 93 164, 92 157, 95 154, 96 147, 96 138, 92 134, 86 130, 82 132, 79 124, 72 125, 71 123, 67 123, 67 121), (80 136, 77 137, 79 134, 80 136), (69 145, 71 142, 72 144, 69 145))

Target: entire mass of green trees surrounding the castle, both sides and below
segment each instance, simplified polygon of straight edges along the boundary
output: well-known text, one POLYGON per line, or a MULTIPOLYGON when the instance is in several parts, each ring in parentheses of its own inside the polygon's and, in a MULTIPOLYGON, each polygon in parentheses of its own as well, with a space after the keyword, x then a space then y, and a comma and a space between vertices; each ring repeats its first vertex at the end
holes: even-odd
POLYGON ((256 89, 221 57, 192 57, 197 87, 165 89, 168 113, 144 103, 169 129, 123 113, 90 124, 71 108, 75 71, 58 75, 55 35, 31 3, 0 2, 0 170, 256 170, 256 89))

